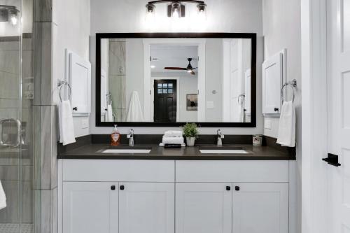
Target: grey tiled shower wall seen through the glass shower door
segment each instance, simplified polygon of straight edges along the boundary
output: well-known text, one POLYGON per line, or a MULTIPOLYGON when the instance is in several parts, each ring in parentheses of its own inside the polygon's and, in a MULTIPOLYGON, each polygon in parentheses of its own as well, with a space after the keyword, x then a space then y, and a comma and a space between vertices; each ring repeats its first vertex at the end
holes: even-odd
MULTIPOLYGON (((24 91, 32 87, 33 71, 31 34, 23 38, 23 77, 24 91)), ((0 38, 0 118, 21 119, 19 111, 19 80, 20 80, 20 38, 8 36, 0 38)), ((28 94, 28 92, 26 92, 28 94)), ((32 99, 27 96, 22 99, 22 129, 24 130, 24 145, 22 146, 22 171, 18 148, 0 148, 0 180, 6 191, 8 207, 0 211, 0 224, 19 223, 19 185, 22 185, 22 223, 33 223, 33 156, 31 148, 32 129, 29 122, 32 118, 32 99), (27 99, 29 98, 29 99, 27 99), (22 183, 20 184, 20 174, 22 183)), ((8 125, 7 132, 15 130, 14 125, 8 125)))

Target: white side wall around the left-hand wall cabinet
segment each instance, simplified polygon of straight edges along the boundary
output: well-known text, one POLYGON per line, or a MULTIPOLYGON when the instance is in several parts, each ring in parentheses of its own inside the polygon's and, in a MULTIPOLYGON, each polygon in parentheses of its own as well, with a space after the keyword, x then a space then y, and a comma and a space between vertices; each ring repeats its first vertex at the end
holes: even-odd
MULTIPOLYGON (((89 59, 90 0, 59 0, 54 4, 52 85, 57 88, 57 80, 64 80, 65 77, 66 48, 84 59, 89 59)), ((55 103, 58 104, 58 93, 54 97, 55 103)), ((92 111, 93 114, 94 111, 92 111)), ((83 126, 84 121, 89 122, 89 117, 73 118, 76 136, 90 133, 89 127, 83 126)))

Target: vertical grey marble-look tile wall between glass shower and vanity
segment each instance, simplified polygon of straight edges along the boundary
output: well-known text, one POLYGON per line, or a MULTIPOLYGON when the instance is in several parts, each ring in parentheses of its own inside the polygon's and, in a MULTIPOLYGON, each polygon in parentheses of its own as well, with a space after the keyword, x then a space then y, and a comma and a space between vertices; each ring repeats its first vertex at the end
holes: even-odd
POLYGON ((52 0, 34 0, 34 172, 36 232, 57 232, 57 106, 52 0))

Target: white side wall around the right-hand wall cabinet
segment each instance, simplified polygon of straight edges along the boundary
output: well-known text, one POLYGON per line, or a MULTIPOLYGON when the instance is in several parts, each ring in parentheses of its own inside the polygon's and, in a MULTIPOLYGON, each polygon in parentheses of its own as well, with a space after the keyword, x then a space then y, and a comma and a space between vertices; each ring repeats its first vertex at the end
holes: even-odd
MULTIPOLYGON (((265 59, 283 48, 287 55, 287 80, 297 80, 295 107, 297 114, 297 213, 301 213, 301 148, 302 148, 302 108, 301 108, 301 5, 300 0, 263 0, 263 27, 265 36, 265 59)), ((279 118, 265 118, 271 121, 271 129, 264 129, 264 134, 276 138, 278 136, 279 118)), ((292 218, 293 219, 293 218, 292 218)), ((301 219, 297 216, 297 229, 301 232, 301 219)))

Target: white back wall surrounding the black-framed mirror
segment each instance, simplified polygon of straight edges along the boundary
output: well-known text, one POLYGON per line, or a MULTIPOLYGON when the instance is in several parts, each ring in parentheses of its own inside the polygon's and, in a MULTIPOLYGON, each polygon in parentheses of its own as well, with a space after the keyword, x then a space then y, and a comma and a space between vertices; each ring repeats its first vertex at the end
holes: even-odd
MULTIPOLYGON (((188 17, 172 21, 165 17, 165 8, 157 6, 155 24, 145 20, 146 1, 139 0, 91 0, 90 61, 92 62, 92 87, 94 87, 95 34, 97 32, 250 32, 258 34, 257 96, 261 96, 262 64, 262 0, 207 0, 207 20, 196 23, 195 4, 188 7, 188 17)), ((92 112, 94 112, 94 88, 92 88, 92 112)), ((256 128, 224 128, 225 134, 262 134, 261 100, 257 104, 256 128)), ((109 127, 94 127, 94 115, 90 118, 91 134, 109 134, 109 127)), ((127 133, 129 127, 119 127, 127 133)), ((134 127, 135 134, 162 134, 169 127, 134 127)), ((201 134, 215 134, 216 128, 202 128, 201 134)))

